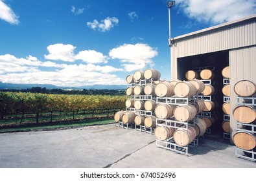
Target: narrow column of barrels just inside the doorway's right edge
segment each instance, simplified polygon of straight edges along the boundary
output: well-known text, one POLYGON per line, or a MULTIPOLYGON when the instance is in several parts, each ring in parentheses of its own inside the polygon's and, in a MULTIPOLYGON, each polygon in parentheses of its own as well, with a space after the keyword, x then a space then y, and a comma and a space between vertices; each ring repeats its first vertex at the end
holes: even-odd
MULTIPOLYGON (((230 78, 230 70, 229 66, 224 67, 222 69, 222 77, 223 77, 223 87, 222 87, 222 94, 224 95, 223 98, 223 105, 222 105, 222 111, 224 112, 224 120, 222 122, 222 130, 224 133, 230 134, 230 113, 231 113, 231 107, 230 107, 230 85, 229 85, 229 78, 230 78)), ((226 138, 224 136, 224 138, 226 138)))

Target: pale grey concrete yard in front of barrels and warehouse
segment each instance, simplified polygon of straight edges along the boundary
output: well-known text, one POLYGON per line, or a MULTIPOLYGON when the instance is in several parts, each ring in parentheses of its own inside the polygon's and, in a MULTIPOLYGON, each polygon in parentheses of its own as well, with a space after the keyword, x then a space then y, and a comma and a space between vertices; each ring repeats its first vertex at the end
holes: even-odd
POLYGON ((0 134, 1 168, 256 168, 229 142, 201 139, 188 156, 156 147, 154 134, 114 124, 0 134))

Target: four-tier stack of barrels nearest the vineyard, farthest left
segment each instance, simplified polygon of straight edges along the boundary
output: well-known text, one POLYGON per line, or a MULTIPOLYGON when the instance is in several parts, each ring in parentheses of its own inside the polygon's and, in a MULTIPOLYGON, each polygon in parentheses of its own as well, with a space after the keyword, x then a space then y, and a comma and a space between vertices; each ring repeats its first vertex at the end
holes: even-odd
POLYGON ((126 88, 126 111, 115 113, 115 122, 143 125, 146 128, 156 127, 155 87, 159 83, 161 73, 154 69, 137 70, 126 77, 128 84, 126 88), (141 113, 144 112, 144 113, 141 113), (147 114, 145 112, 151 112, 147 114), (129 115, 129 116, 128 116, 129 115))

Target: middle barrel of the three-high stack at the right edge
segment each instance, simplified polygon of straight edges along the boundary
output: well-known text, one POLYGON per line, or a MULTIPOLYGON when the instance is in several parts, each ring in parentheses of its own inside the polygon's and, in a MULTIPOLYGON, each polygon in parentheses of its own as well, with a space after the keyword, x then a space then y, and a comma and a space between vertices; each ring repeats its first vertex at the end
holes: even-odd
POLYGON ((233 115, 240 123, 251 123, 256 119, 255 109, 247 105, 239 105, 235 107, 233 115))

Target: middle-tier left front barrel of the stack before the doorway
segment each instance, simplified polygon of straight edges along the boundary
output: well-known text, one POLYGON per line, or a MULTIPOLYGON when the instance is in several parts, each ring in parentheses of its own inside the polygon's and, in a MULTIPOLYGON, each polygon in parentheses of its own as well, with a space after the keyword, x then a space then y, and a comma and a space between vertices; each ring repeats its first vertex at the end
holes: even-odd
POLYGON ((170 118, 174 114, 175 105, 157 104, 155 114, 159 119, 170 118))

